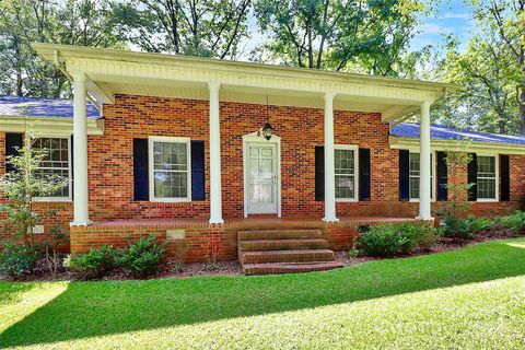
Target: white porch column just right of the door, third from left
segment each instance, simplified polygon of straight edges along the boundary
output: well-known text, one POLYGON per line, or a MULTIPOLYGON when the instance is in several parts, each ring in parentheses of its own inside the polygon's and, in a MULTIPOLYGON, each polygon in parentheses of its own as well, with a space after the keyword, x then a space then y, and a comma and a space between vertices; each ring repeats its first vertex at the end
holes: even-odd
POLYGON ((325 222, 337 222, 334 161, 334 93, 325 93, 325 222))

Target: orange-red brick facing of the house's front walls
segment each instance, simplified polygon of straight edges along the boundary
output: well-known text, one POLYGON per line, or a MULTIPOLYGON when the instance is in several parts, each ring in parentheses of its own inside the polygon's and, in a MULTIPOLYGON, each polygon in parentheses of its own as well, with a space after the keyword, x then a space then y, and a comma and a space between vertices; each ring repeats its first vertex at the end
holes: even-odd
MULTIPOLYGON (((315 145, 323 144, 323 110, 232 102, 221 102, 220 108, 222 196, 226 221, 229 218, 242 218, 244 213, 242 136, 256 131, 268 121, 281 137, 282 215, 323 217, 323 202, 315 201, 314 186, 315 145)), ((209 199, 184 203, 133 200, 132 139, 173 136, 203 140, 205 164, 208 167, 208 110, 207 101, 132 95, 117 95, 114 105, 105 105, 104 136, 89 136, 91 219, 106 222, 195 218, 206 222, 209 199)), ((4 135, 0 133, 0 175, 4 171, 4 135)), ((369 148, 372 167, 371 200, 338 202, 339 217, 410 218, 417 214, 418 203, 398 200, 398 151, 388 147, 388 124, 381 121, 380 114, 335 110, 335 142, 369 148)), ((521 155, 510 156, 511 201, 476 202, 472 203, 471 211, 477 214, 504 214, 522 208, 525 194, 525 172, 522 171, 524 160, 521 155)), ((209 195, 209 172, 206 172, 206 190, 209 195)), ((466 182, 467 178, 466 171, 454 176, 457 182, 466 182)), ((433 209, 440 205, 433 203, 433 209)), ((57 205, 37 205, 43 211, 49 206, 57 205)), ((52 221, 68 230, 72 219, 72 205, 59 203, 58 207, 59 212, 52 221)), ((82 250, 91 244, 100 243, 121 245, 128 234, 162 234, 159 230, 143 225, 135 229, 75 228, 71 230, 71 248, 82 250)), ((201 259, 207 254, 206 250, 211 249, 208 240, 210 232, 214 233, 213 240, 220 243, 221 257, 234 257, 235 230, 209 225, 187 231, 187 241, 192 243, 189 255, 201 259)), ((335 226, 329 232, 330 244, 340 248, 348 245, 343 242, 349 235, 347 229, 341 231, 335 226)), ((173 244, 171 246, 176 247, 173 244)))

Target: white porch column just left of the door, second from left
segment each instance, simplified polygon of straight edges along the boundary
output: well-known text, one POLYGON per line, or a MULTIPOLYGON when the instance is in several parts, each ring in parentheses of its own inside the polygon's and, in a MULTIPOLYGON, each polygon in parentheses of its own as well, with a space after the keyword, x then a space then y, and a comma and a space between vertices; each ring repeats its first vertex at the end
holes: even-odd
POLYGON ((210 90, 210 223, 222 224, 221 189, 221 126, 219 83, 209 83, 210 90))

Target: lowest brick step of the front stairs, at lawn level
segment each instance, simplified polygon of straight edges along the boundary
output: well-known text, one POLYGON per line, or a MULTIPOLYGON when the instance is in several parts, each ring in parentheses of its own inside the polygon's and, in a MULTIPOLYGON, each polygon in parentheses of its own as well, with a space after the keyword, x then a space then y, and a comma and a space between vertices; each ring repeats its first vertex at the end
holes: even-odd
POLYGON ((299 273, 327 271, 342 266, 338 261, 245 264, 243 271, 245 275, 299 273))

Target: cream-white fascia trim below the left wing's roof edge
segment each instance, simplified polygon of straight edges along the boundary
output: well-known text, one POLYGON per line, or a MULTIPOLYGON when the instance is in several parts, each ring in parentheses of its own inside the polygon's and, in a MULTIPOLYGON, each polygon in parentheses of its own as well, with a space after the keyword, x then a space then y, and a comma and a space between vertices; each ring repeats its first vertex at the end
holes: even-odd
MULTIPOLYGON (((88 118, 88 135, 104 135, 104 119, 88 118)), ((0 116, 0 132, 32 132, 65 136, 73 133, 73 118, 0 116)))

